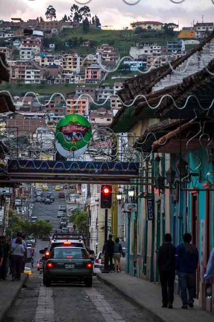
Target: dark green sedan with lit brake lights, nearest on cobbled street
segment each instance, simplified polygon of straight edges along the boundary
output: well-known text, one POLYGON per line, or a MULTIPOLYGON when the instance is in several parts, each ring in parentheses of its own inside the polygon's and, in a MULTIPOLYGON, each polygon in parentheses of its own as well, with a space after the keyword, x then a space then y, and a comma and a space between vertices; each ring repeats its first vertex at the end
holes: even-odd
POLYGON ((92 287, 93 265, 84 248, 56 247, 44 265, 43 282, 79 281, 92 287))

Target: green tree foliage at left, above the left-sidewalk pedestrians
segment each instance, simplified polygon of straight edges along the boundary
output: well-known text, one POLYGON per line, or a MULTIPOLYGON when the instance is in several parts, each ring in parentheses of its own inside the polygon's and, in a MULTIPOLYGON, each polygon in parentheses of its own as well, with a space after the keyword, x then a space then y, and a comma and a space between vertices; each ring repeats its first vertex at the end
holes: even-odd
POLYGON ((39 219, 36 222, 29 222, 9 209, 9 225, 6 229, 8 235, 16 235, 17 231, 22 231, 25 235, 34 234, 35 237, 49 236, 52 230, 52 224, 39 219))

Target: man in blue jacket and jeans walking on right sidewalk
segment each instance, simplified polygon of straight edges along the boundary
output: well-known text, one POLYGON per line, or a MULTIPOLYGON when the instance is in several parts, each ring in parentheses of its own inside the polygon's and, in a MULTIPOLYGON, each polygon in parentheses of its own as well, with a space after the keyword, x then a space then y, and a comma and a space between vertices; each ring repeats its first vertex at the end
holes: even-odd
POLYGON ((175 252, 175 273, 178 274, 180 284, 182 307, 193 307, 193 288, 195 281, 195 272, 198 264, 198 251, 196 246, 190 244, 192 236, 190 233, 183 235, 183 243, 178 245, 175 252), (188 289, 189 298, 187 301, 188 289))

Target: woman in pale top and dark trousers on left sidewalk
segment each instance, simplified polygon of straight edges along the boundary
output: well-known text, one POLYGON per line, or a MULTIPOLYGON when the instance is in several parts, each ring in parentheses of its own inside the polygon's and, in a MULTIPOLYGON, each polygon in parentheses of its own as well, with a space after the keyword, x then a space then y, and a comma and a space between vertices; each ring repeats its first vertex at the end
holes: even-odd
POLYGON ((17 237, 11 252, 12 281, 20 281, 24 253, 25 248, 22 245, 22 237, 17 237))

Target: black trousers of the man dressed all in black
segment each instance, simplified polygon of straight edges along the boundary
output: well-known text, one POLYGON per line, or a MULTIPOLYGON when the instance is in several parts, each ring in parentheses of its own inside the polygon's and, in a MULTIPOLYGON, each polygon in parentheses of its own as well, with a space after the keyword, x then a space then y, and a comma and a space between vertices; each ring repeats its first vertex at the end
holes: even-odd
POLYGON ((174 301, 174 280, 175 272, 160 272, 162 288, 162 302, 164 306, 172 305, 174 301), (167 289, 168 288, 168 289, 167 289))

